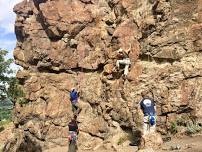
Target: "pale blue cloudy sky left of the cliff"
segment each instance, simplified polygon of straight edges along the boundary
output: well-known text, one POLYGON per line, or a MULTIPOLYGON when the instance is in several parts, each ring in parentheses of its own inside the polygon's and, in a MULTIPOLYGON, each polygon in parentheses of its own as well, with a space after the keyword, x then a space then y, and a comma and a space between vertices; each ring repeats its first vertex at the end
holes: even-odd
POLYGON ((8 58, 13 58, 16 44, 14 34, 15 13, 13 7, 22 0, 0 0, 0 48, 9 51, 8 58))

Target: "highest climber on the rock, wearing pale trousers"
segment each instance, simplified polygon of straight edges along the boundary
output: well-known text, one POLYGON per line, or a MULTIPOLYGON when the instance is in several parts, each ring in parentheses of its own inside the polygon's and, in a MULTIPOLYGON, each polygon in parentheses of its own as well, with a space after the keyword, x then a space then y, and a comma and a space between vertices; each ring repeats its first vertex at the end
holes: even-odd
POLYGON ((117 61, 116 61, 116 68, 119 70, 120 69, 120 64, 125 65, 124 67, 124 77, 127 76, 128 71, 129 71, 129 66, 131 64, 130 58, 128 56, 129 52, 131 50, 131 44, 130 48, 128 50, 123 50, 122 48, 117 50, 117 61))

